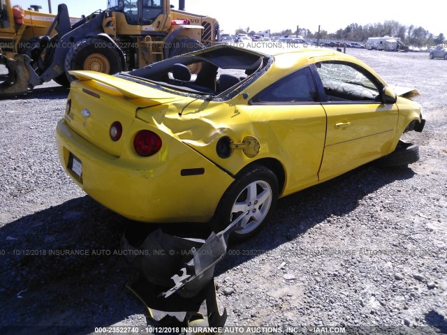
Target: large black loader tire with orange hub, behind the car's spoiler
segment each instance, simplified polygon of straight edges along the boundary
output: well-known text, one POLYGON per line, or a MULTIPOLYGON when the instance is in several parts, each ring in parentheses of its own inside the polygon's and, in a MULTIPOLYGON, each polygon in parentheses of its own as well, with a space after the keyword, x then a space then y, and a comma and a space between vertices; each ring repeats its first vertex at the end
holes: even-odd
POLYGON ((122 61, 118 51, 101 38, 84 38, 75 43, 65 58, 65 72, 71 82, 75 78, 68 74, 70 70, 93 70, 113 75, 122 70, 122 61))

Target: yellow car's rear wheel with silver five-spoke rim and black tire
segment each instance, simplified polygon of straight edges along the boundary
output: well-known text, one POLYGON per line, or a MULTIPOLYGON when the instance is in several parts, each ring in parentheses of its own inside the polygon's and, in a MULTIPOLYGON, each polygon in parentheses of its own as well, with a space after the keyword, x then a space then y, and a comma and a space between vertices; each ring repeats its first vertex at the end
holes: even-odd
POLYGON ((230 235, 230 242, 240 242, 257 234, 274 211, 278 199, 278 179, 272 170, 254 165, 237 175, 223 194, 212 221, 214 231, 224 230, 242 212, 242 229, 230 235))

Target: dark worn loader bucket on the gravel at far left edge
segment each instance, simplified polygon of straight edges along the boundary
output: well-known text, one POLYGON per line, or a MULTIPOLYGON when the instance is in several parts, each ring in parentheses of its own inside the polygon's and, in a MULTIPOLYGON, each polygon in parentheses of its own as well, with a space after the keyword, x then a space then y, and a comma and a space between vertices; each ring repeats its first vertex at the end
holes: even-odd
POLYGON ((0 65, 5 65, 8 70, 6 75, 0 75, 0 98, 19 96, 28 91, 30 61, 25 54, 14 54, 14 59, 0 54, 0 65))

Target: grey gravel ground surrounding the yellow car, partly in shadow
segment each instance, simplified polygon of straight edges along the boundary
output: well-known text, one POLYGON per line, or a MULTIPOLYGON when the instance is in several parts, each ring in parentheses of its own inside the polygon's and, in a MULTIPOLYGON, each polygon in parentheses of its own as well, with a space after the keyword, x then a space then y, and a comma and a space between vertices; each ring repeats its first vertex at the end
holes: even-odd
MULTIPOLYGON (((404 170, 365 165, 279 200, 263 233, 217 267, 228 326, 447 333, 447 62, 347 52, 420 91, 427 124, 405 137, 421 159, 404 170)), ((114 255, 124 228, 141 224, 91 200, 59 166, 54 128, 66 96, 50 83, 0 101, 1 334, 157 325, 125 288, 135 270, 114 255), (56 249, 89 255, 49 255, 56 249)))

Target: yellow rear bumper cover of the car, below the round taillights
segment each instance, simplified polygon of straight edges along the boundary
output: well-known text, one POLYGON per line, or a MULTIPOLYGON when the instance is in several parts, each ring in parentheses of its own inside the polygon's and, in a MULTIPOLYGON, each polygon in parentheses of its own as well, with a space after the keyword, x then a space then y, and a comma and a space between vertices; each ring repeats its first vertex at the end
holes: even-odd
POLYGON ((80 137, 62 119, 57 124, 59 160, 82 190, 122 216, 154 223, 209 221, 234 179, 186 144, 151 130, 163 140, 159 153, 142 158, 129 146, 117 157, 80 137), (70 154, 82 163, 81 177, 68 168, 70 154), (185 174, 185 169, 203 174, 185 174))

